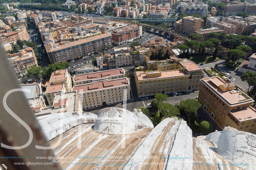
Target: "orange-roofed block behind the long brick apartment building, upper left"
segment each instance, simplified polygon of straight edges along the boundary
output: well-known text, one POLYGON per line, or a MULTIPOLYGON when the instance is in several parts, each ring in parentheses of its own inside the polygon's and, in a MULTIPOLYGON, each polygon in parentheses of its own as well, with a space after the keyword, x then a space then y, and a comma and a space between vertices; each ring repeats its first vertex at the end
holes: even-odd
POLYGON ((71 18, 59 19, 59 21, 69 27, 79 27, 87 24, 93 24, 92 18, 86 18, 81 16, 71 16, 71 18))

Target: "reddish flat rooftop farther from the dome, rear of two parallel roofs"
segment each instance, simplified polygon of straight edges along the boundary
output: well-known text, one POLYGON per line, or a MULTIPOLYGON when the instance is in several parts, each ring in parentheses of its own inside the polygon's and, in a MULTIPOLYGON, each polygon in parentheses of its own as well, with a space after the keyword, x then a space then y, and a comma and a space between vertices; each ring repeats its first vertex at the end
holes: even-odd
POLYGON ((115 75, 120 75, 120 74, 123 74, 123 75, 125 74, 124 70, 122 68, 103 71, 103 72, 87 73, 87 74, 82 74, 82 75, 76 75, 74 77, 74 82, 88 80, 88 79, 96 80, 96 79, 106 78, 109 76, 115 76, 115 75))

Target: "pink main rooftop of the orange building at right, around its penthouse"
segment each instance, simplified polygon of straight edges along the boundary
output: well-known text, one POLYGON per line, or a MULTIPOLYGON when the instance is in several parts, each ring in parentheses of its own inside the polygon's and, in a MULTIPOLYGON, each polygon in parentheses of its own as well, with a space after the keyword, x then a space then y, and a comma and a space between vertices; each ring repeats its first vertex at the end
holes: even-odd
MULTIPOLYGON (((221 95, 221 97, 224 97, 230 104, 233 104, 233 103, 237 103, 239 102, 240 100, 244 100, 246 99, 244 96, 242 96, 240 93, 243 93, 241 92, 240 90, 236 90, 236 91, 239 91, 239 93, 231 93, 232 91, 222 91, 215 83, 213 83, 213 81, 211 80, 214 80, 214 82, 216 82, 217 84, 219 85, 223 85, 225 84, 224 81, 221 81, 218 77, 214 77, 214 78, 205 78, 205 79, 202 79, 202 81, 204 81, 205 83, 207 83, 208 85, 210 85, 212 88, 214 88, 218 93, 219 95, 221 95)), ((245 93, 244 93, 245 94, 245 93)), ((251 99, 251 98, 250 98, 251 99)), ((249 100, 249 99, 248 99, 249 100)), ((252 99, 251 99, 252 100, 252 99)), ((244 102, 247 102, 246 100, 244 102)))

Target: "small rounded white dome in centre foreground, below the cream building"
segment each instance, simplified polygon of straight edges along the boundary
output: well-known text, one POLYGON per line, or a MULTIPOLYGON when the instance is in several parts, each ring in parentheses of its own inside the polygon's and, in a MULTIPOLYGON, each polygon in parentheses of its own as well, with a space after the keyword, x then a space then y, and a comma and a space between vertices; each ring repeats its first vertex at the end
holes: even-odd
POLYGON ((138 117, 132 112, 117 107, 99 111, 94 131, 103 134, 129 134, 138 129, 138 117))

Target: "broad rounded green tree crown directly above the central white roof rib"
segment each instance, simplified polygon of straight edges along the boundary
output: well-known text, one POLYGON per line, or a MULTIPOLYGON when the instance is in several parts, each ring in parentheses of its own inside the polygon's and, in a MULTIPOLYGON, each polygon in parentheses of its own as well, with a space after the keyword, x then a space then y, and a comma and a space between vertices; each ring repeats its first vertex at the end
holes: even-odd
POLYGON ((161 103, 157 106, 157 109, 160 111, 164 117, 172 117, 179 114, 179 109, 169 103, 161 103))

